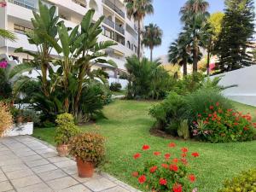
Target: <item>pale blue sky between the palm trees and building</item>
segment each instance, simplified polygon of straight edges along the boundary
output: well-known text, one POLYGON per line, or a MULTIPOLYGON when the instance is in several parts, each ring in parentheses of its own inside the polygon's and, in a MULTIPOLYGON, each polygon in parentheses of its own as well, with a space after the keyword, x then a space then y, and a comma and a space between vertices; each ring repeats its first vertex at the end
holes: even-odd
MULTIPOLYGON (((154 15, 147 16, 144 21, 144 25, 153 22, 163 30, 162 44, 160 47, 154 48, 154 58, 166 55, 169 45, 181 32, 179 9, 185 2, 186 0, 154 0, 154 15)), ((208 2, 210 3, 210 13, 224 10, 224 0, 208 0, 208 2)), ((149 57, 149 49, 145 49, 145 54, 149 57)))

